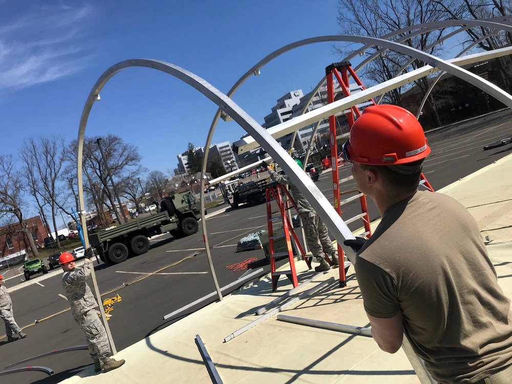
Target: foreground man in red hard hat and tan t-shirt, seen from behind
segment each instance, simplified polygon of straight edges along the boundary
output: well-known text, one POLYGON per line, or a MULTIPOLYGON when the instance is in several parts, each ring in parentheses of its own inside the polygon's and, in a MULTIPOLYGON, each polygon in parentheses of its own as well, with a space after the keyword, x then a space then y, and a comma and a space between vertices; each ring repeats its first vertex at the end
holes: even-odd
POLYGON ((430 147, 414 115, 369 106, 343 146, 359 190, 382 217, 346 240, 372 335, 395 353, 405 332, 439 383, 512 383, 512 317, 480 228, 459 202, 418 191, 430 147))

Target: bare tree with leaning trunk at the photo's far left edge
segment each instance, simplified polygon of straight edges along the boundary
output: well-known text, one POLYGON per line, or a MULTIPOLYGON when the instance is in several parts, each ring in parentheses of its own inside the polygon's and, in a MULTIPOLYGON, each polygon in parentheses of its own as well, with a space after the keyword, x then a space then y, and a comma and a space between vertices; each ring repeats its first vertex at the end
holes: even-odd
POLYGON ((23 193, 22 177, 16 173, 15 161, 12 155, 0 155, 0 212, 6 214, 7 217, 15 217, 17 219, 29 243, 32 254, 35 257, 39 257, 39 252, 24 218, 23 193))

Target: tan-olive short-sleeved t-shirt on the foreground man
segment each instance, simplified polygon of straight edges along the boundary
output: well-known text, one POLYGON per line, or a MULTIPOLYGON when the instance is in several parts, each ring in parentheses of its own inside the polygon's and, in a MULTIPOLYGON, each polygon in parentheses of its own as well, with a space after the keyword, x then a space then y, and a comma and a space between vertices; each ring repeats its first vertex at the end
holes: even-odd
POLYGON ((418 356, 440 383, 473 383, 512 364, 510 300, 478 224, 428 191, 389 207, 355 264, 365 310, 400 311, 418 356))

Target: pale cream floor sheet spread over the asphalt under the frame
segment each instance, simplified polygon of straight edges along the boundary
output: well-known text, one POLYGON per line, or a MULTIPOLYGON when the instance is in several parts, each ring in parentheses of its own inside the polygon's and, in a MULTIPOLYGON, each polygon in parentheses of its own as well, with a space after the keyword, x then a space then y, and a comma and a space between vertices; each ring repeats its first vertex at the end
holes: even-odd
MULTIPOLYGON (((492 240, 487 249, 496 266, 499 282, 512 297, 512 180, 507 156, 479 172, 447 186, 440 192, 453 196, 470 209, 492 240)), ((296 262, 300 281, 314 272, 296 262)), ((349 271, 349 277, 353 270, 349 271)), ((282 314, 326 322, 368 327, 357 280, 338 288, 338 270, 331 270, 305 287, 327 281, 282 314), (332 281, 329 280, 332 278, 332 281)), ((268 277, 211 304, 144 340, 120 351, 116 358, 126 364, 109 373, 87 368, 67 383, 208 383, 211 379, 195 344, 202 338, 225 383, 361 383, 409 384, 418 378, 402 350, 382 352, 369 337, 284 323, 272 316, 224 343, 232 332, 252 322, 254 311, 282 295, 291 285, 284 278, 272 292, 268 277)))

